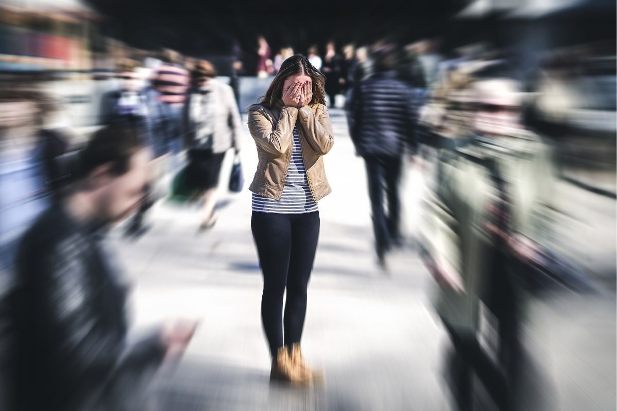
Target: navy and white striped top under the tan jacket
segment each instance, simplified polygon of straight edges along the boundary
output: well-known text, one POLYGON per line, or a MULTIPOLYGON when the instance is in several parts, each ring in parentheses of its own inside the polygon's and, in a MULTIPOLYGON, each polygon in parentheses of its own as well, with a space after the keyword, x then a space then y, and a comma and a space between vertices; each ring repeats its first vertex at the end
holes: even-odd
POLYGON ((294 150, 291 153, 281 200, 253 193, 252 209, 263 213, 278 214, 302 214, 318 210, 317 203, 313 200, 309 189, 307 172, 302 160, 300 137, 296 128, 294 128, 294 150))

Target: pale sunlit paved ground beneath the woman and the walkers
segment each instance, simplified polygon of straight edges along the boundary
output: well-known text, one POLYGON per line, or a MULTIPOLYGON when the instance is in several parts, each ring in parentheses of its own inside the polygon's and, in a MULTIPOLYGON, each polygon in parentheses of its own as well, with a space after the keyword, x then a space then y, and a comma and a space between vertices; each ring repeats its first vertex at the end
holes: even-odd
MULTIPOLYGON (((447 340, 431 312, 431 280, 413 245, 420 175, 405 174, 410 241, 407 250, 392 256, 386 275, 373 256, 363 163, 353 155, 342 112, 333 110, 332 116, 337 140, 326 170, 334 191, 320 201, 320 245, 303 340, 307 359, 325 370, 325 384, 310 389, 270 385, 250 193, 224 193, 221 217, 207 234, 196 235, 196 210, 162 205, 152 214, 151 231, 137 242, 114 235, 135 279, 134 319, 140 328, 169 315, 201 320, 181 364, 152 388, 151 405, 183 411, 449 409, 442 362, 447 340)), ((245 137, 242 161, 250 180, 257 156, 248 132, 245 137)), ((230 162, 227 158, 222 176, 230 162)), ((565 191, 580 197, 568 187, 565 191)), ((599 231, 603 244, 587 243, 579 253, 593 251, 587 254, 595 261, 587 266, 602 266, 598 272, 612 278, 615 201, 584 198, 595 205, 592 216, 600 217, 582 212, 589 206, 584 202, 569 203, 573 221, 586 227, 579 242, 599 231)), ((527 330, 526 409, 615 409, 614 291, 533 301, 527 330)))

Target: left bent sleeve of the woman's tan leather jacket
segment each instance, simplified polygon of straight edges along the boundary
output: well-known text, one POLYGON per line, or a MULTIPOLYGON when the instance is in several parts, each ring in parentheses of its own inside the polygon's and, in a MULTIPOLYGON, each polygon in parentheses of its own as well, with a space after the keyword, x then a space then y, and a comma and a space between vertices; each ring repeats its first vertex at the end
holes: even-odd
POLYGON ((249 108, 249 131, 257 145, 268 153, 280 157, 289 148, 298 116, 296 107, 283 107, 276 129, 259 108, 249 108))

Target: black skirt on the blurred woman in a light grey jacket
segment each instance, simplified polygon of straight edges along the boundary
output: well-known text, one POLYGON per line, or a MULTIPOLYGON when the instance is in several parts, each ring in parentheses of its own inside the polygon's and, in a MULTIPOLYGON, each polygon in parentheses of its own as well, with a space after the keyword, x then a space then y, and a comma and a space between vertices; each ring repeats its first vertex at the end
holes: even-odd
POLYGON ((186 169, 186 185, 191 189, 208 190, 217 187, 225 153, 210 149, 190 149, 186 169))

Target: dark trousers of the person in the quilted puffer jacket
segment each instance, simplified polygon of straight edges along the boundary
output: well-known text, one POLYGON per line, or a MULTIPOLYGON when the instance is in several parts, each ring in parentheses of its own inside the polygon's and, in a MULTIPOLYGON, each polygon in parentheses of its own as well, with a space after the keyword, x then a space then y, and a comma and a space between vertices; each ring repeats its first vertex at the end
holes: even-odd
POLYGON ((364 160, 373 214, 375 247, 378 256, 382 256, 391 246, 392 240, 400 239, 399 182, 402 159, 366 155, 364 160), (387 213, 384 210, 384 196, 387 198, 387 213))

